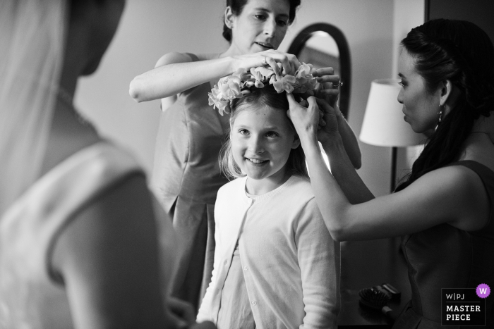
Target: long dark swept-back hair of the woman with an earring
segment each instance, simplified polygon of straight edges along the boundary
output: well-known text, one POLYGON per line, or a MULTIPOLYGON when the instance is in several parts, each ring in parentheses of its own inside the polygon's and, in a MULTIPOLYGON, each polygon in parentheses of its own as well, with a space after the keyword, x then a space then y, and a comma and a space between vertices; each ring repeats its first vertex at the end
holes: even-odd
POLYGON ((494 47, 474 23, 430 20, 402 40, 402 51, 414 56, 415 69, 432 93, 450 80, 459 89, 456 104, 430 137, 397 191, 431 170, 457 161, 474 120, 494 109, 494 47))

